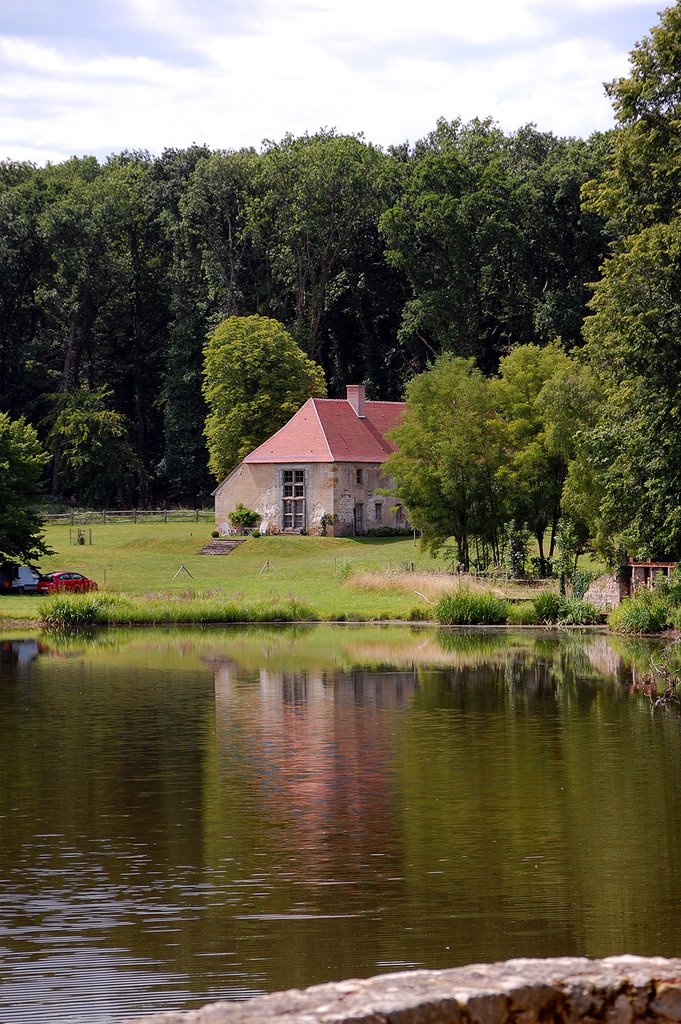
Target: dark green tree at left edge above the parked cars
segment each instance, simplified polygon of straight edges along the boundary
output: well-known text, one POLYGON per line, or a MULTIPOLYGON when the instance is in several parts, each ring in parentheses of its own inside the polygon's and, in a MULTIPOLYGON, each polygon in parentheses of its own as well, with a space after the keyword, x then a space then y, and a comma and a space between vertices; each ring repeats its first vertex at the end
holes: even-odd
POLYGON ((0 413, 0 561, 31 562, 50 553, 36 508, 46 461, 34 428, 0 413))

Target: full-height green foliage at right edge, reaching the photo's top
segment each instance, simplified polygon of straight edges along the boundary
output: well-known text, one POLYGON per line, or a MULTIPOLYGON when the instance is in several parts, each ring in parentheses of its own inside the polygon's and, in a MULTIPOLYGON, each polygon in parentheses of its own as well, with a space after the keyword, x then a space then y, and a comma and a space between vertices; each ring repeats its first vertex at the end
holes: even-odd
POLYGON ((585 337, 603 400, 583 432, 565 504, 612 561, 681 556, 681 4, 608 86, 620 128, 585 204, 619 232, 585 337))

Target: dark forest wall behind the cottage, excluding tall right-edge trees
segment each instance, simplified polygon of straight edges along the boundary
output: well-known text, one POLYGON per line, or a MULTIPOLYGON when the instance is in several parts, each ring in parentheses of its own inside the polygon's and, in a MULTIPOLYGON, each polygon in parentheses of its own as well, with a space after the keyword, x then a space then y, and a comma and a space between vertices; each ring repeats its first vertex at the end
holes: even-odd
POLYGON ((194 502, 211 489, 203 348, 225 316, 281 321, 332 396, 399 399, 442 351, 491 372, 519 342, 580 344, 607 249, 580 189, 608 150, 442 121, 388 152, 327 132, 4 163, 0 409, 52 451, 55 499, 194 502), (59 447, 96 417, 84 480, 59 447))

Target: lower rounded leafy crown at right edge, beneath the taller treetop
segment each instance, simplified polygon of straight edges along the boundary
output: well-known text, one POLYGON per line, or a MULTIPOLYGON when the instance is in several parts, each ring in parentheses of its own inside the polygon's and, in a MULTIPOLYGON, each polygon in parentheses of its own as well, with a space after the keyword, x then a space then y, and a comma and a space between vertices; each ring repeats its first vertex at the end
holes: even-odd
POLYGON ((603 391, 581 436, 566 502, 598 549, 681 557, 681 221, 608 260, 585 326, 603 391))

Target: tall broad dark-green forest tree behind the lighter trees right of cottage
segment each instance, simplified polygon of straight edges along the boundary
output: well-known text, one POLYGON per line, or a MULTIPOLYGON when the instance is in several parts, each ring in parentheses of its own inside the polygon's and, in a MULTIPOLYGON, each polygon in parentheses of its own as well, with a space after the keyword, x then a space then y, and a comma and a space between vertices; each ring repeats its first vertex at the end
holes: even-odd
POLYGON ((420 365, 442 351, 485 372, 528 341, 580 342, 603 253, 600 218, 580 209, 602 146, 528 125, 440 121, 417 145, 382 216, 387 256, 406 278, 399 340, 420 365))

